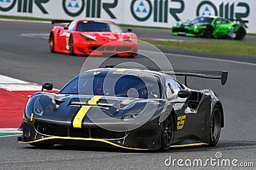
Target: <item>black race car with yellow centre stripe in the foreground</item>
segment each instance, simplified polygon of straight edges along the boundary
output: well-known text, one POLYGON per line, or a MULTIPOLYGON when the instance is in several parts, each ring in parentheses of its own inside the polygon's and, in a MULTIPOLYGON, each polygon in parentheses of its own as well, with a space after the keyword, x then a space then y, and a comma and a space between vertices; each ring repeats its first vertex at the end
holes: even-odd
MULTIPOLYGON (((19 143, 133 150, 218 143, 224 126, 221 102, 212 90, 189 89, 186 78, 221 79, 225 85, 227 72, 111 67, 79 74, 58 94, 31 96, 19 143), (185 76, 185 85, 173 74, 185 76)), ((52 83, 42 88, 51 90, 52 83)))

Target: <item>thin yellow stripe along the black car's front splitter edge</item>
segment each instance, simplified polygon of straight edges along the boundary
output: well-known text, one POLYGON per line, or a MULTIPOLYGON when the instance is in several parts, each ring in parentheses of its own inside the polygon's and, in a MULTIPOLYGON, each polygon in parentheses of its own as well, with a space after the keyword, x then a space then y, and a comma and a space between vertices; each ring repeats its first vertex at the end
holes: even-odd
POLYGON ((104 140, 104 139, 73 138, 73 137, 60 137, 60 136, 52 136, 52 137, 42 138, 42 139, 38 139, 38 140, 35 140, 35 141, 28 141, 28 142, 19 141, 19 143, 36 143, 36 142, 45 141, 45 140, 49 140, 49 139, 72 139, 72 140, 83 140, 83 141, 99 141, 99 142, 108 143, 109 145, 129 149, 129 150, 148 150, 148 149, 143 149, 143 148, 129 148, 129 147, 126 147, 126 146, 120 146, 120 145, 117 145, 113 142, 110 142, 110 141, 107 141, 107 140, 104 140))

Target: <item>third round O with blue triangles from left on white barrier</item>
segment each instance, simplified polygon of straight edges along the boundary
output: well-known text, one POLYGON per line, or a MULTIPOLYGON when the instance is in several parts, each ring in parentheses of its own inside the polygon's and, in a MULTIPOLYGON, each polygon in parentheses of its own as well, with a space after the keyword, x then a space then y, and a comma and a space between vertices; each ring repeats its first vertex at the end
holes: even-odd
POLYGON ((133 0, 131 3, 131 13, 136 20, 145 21, 152 13, 152 4, 149 0, 133 0))

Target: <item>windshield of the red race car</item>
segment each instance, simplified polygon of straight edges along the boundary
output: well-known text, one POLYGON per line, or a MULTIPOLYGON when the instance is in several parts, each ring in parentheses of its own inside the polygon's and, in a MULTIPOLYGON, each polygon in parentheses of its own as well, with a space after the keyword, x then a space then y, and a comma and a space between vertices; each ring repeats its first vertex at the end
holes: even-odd
POLYGON ((77 23, 79 32, 124 32, 121 27, 112 23, 95 20, 84 20, 77 23))

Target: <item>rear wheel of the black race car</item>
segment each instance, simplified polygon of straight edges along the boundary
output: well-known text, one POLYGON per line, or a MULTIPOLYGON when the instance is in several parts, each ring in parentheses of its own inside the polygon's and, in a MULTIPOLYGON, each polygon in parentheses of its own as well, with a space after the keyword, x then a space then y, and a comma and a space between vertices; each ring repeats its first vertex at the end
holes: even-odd
POLYGON ((220 131, 221 131, 221 113, 220 108, 218 106, 214 107, 212 111, 211 117, 211 125, 210 125, 210 139, 209 145, 216 146, 220 139, 220 131))

